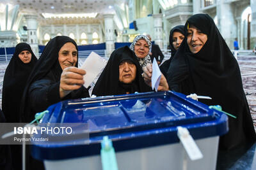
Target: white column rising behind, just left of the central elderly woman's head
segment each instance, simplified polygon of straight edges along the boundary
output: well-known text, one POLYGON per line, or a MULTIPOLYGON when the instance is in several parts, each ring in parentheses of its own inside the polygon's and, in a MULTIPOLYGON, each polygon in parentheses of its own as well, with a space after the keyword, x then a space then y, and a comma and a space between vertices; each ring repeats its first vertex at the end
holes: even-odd
POLYGON ((115 50, 114 45, 114 22, 113 14, 104 14, 104 24, 105 24, 105 39, 106 39, 106 55, 110 57, 113 50, 115 50))

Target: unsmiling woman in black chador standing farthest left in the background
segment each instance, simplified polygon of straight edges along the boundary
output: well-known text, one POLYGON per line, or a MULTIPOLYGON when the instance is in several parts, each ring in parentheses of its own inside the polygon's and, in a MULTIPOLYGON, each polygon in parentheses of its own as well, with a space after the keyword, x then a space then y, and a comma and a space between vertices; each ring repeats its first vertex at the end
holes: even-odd
POLYGON ((3 81, 2 109, 7 123, 18 123, 20 121, 20 99, 36 61, 35 54, 27 43, 16 45, 3 81))

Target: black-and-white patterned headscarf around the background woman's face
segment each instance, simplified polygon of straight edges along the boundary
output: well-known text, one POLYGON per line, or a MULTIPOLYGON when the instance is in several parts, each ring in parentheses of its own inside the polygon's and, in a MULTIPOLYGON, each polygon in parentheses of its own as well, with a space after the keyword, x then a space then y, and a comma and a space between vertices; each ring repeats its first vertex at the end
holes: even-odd
POLYGON ((152 63, 151 62, 151 59, 150 59, 150 56, 149 56, 149 52, 151 51, 151 42, 149 41, 149 39, 147 38, 147 36, 143 36, 143 35, 138 35, 136 36, 134 39, 133 39, 133 42, 131 43, 131 50, 134 51, 134 46, 135 44, 137 43, 137 41, 139 41, 140 39, 144 39, 147 43, 148 43, 148 48, 149 48, 149 51, 148 51, 148 55, 143 58, 143 59, 140 59, 138 58, 139 62, 140 62, 140 66, 141 67, 144 67, 146 66, 148 63, 152 63))

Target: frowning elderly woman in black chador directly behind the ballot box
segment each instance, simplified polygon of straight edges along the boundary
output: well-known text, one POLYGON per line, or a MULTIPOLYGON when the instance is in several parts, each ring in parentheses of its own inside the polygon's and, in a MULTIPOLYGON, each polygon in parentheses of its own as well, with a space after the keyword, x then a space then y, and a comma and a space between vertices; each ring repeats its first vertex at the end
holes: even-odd
POLYGON ((92 94, 109 96, 149 92, 151 89, 145 84, 141 73, 135 53, 128 46, 118 48, 111 53, 108 64, 100 74, 92 94))

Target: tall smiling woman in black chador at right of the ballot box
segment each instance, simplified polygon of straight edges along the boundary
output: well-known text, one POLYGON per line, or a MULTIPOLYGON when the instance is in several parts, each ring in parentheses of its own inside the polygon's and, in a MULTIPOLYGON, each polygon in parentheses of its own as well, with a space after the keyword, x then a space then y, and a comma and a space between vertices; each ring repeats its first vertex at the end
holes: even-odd
POLYGON ((220 104, 237 117, 228 117, 229 131, 220 137, 221 150, 255 141, 237 60, 209 15, 196 14, 186 22, 185 39, 170 64, 168 78, 178 92, 210 96, 212 100, 200 101, 220 104))

